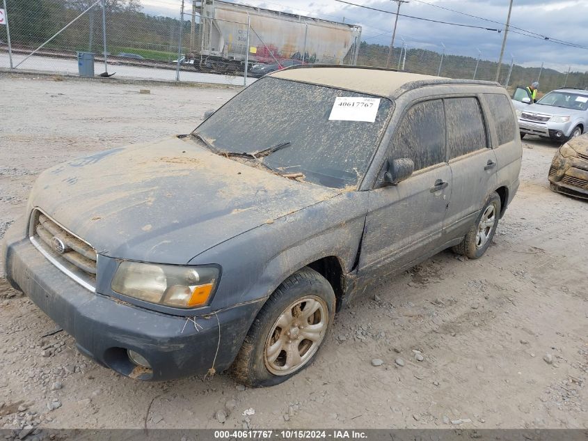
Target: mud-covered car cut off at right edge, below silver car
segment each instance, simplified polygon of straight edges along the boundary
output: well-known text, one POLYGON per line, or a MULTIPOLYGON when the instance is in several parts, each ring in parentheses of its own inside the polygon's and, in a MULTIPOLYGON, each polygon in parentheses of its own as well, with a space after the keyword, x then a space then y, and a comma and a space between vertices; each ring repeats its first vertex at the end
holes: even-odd
POLYGON ((554 192, 588 199, 588 134, 570 139, 557 150, 549 183, 554 192))

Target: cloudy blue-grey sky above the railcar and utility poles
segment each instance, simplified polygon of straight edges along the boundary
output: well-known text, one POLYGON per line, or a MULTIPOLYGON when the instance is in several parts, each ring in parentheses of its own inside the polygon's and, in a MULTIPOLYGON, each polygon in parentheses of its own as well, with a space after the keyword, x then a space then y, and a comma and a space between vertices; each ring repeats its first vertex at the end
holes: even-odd
MULTIPOLYGON (((263 8, 283 10, 327 20, 345 21, 363 26, 362 40, 390 44, 394 15, 374 10, 357 8, 335 0, 228 0, 232 3, 251 4, 263 8)), ((349 0, 383 10, 395 11, 397 3, 392 0, 349 0)), ((509 0, 424 0, 438 6, 459 10, 462 13, 485 17, 504 23, 507 19, 509 0)), ((142 0, 145 13, 177 16, 181 0, 142 0)), ((186 4, 191 4, 186 0, 186 4)), ((417 0, 404 3, 401 13, 427 17, 447 22, 502 28, 499 24, 477 20, 424 4, 417 0)), ((527 29, 550 38, 566 40, 588 47, 588 0, 514 0, 511 25, 527 29)), ((440 42, 447 47, 447 53, 477 56, 498 61, 502 33, 482 29, 468 29, 445 24, 434 24, 420 20, 399 17, 397 36, 402 36, 409 47, 421 47, 440 52, 440 42)), ((400 40, 397 40, 400 42, 400 40)), ((396 44, 395 44, 396 45, 396 44)), ((546 68, 565 71, 571 65, 572 71, 588 70, 588 49, 558 45, 554 42, 529 38, 509 33, 504 62, 509 63, 511 54, 517 64, 534 66, 544 61, 546 68)))

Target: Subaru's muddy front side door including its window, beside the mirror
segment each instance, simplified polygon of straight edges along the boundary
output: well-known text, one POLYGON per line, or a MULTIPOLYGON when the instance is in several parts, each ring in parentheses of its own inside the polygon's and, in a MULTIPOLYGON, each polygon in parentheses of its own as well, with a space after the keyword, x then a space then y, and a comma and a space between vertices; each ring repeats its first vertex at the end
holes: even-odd
POLYGON ((451 192, 443 100, 413 105, 397 125, 386 157, 410 158, 415 172, 397 185, 383 185, 380 179, 370 190, 360 277, 399 270, 434 250, 440 241, 451 192))

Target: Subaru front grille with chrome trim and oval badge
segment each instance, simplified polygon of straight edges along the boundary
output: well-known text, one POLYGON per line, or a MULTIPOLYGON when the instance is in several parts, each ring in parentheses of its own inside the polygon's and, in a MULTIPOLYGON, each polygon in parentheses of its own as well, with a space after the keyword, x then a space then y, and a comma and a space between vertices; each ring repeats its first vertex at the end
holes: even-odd
POLYGON ((30 239, 58 269, 79 284, 95 291, 96 250, 41 210, 33 210, 30 239))

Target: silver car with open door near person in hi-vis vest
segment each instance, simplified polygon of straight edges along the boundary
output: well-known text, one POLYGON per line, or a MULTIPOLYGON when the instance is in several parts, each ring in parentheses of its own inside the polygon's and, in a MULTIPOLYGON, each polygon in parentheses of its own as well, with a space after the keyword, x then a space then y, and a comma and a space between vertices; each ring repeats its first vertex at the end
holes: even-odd
POLYGON ((533 104, 525 88, 519 86, 512 101, 521 138, 535 134, 564 143, 588 130, 588 91, 561 88, 533 104))

